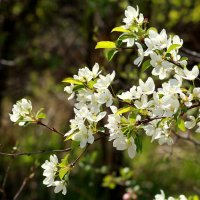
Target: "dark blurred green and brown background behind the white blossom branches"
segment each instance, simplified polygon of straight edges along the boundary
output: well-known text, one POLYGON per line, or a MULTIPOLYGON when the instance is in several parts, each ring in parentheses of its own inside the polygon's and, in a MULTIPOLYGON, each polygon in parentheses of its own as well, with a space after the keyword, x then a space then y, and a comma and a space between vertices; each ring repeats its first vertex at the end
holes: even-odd
MULTIPOLYGON (((16 100, 26 97, 35 110, 45 109, 45 123, 65 133, 73 102, 67 100, 61 81, 78 68, 99 62, 104 71, 115 70, 120 80, 116 89, 127 89, 147 76, 134 66, 133 51, 108 63, 102 50, 94 50, 97 41, 117 38, 110 31, 122 25, 127 5, 139 5, 150 26, 183 38, 182 55, 189 57, 189 67, 200 62, 187 52, 200 52, 199 0, 0 0, 0 151, 66 147, 43 127, 13 125, 8 113, 16 100)), ((40 165, 48 154, 0 156, 0 198, 13 199, 23 183, 17 199, 125 199, 124 194, 131 194, 133 199, 150 200, 160 189, 170 195, 200 194, 199 151, 187 141, 169 148, 147 138, 142 154, 133 160, 126 154, 98 141, 70 175, 66 196, 42 184, 40 165)))

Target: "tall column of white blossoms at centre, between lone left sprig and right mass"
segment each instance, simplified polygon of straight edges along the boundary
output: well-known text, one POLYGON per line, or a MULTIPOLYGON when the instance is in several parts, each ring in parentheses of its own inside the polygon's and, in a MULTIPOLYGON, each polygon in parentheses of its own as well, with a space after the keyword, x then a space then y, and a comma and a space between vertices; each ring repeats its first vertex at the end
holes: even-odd
POLYGON ((74 105, 75 118, 70 120, 70 131, 65 136, 80 142, 81 148, 94 142, 94 134, 98 132, 97 123, 106 115, 106 111, 102 111, 103 105, 109 107, 113 103, 108 87, 115 77, 115 72, 106 76, 100 73, 97 63, 92 71, 87 67, 79 69, 74 80, 80 81, 82 87, 75 92, 76 86, 71 83, 64 89, 71 94, 69 99, 76 95, 77 100, 74 105))

